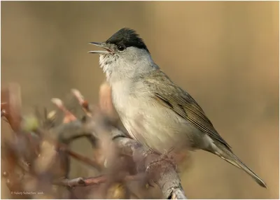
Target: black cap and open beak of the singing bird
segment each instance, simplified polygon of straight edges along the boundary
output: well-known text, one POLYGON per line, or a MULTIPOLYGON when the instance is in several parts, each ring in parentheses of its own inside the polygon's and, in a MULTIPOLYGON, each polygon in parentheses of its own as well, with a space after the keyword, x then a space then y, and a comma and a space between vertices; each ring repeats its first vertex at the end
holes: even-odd
MULTIPOLYGON (((95 43, 92 42, 90 44, 97 45, 99 47, 104 48, 106 51, 90 51, 90 53, 99 53, 99 54, 109 54, 113 53, 113 51, 108 47, 110 44, 116 45, 118 50, 121 52, 125 48, 135 47, 139 49, 144 49, 148 51, 144 41, 139 37, 134 29, 123 28, 113 34, 106 42, 104 43, 95 43)), ((149 51, 148 51, 149 52, 149 51)))

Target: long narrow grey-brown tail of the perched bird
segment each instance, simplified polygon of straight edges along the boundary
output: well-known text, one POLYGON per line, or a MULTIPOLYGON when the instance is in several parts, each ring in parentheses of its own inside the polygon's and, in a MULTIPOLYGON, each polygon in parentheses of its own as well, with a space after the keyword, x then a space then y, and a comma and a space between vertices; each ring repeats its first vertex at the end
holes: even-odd
POLYGON ((218 155, 218 157, 221 157, 225 161, 229 162, 230 164, 237 166, 239 169, 243 169, 250 175, 255 182, 258 183, 261 187, 267 188, 267 185, 265 182, 258 177, 251 169, 248 168, 241 160, 230 150, 228 147, 225 147, 223 144, 217 146, 218 150, 215 150, 214 154, 218 155))

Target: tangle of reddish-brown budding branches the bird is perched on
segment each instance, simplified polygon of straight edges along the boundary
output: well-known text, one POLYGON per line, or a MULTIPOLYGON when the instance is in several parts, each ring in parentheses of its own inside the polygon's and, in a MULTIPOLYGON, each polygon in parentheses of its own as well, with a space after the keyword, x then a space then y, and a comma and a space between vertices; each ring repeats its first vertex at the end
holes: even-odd
MULTIPOLYGON (((85 112, 86 117, 83 117, 82 120, 78 120, 64 106, 60 99, 52 99, 52 103, 55 103, 57 108, 64 113, 64 119, 62 124, 47 130, 41 129, 36 119, 32 117, 21 117, 20 100, 17 100, 20 99, 18 97, 20 93, 18 90, 15 90, 17 88, 12 89, 7 91, 3 90, 7 93, 5 96, 8 98, 1 99, 5 100, 2 101, 4 103, 1 103, 1 116, 6 117, 15 132, 17 140, 13 142, 13 146, 18 147, 16 152, 18 154, 17 159, 21 157, 25 162, 29 162, 29 171, 31 174, 34 172, 34 175, 38 175, 36 177, 36 180, 40 183, 38 184, 38 189, 43 188, 43 186, 47 187, 48 183, 68 187, 101 185, 105 183, 102 190, 107 193, 109 192, 110 185, 114 183, 120 183, 120 185, 124 186, 128 181, 145 180, 146 183, 148 180, 148 183, 153 181, 153 183, 160 187, 166 199, 186 199, 183 188, 181 187, 181 180, 176 173, 174 162, 171 162, 167 156, 158 155, 132 138, 127 137, 126 130, 119 123, 120 119, 116 110, 112 110, 113 106, 111 105, 111 98, 109 98, 110 95, 100 95, 100 97, 106 99, 101 98, 101 101, 99 101, 101 105, 92 108, 83 99, 78 90, 72 90, 85 112), (37 135, 34 136, 34 133, 37 135), (94 154, 97 156, 95 159, 88 159, 69 150, 69 143, 80 137, 90 139, 94 148, 94 154), (17 141, 18 143, 15 143, 17 141), (66 152, 68 155, 80 160, 80 162, 94 166, 94 168, 104 172, 104 175, 92 178, 74 178, 72 180, 63 179, 56 182, 53 182, 55 179, 52 179, 50 182, 45 181, 45 178, 51 175, 53 178, 57 177, 57 174, 59 177, 62 176, 61 173, 56 174, 55 171, 52 171, 52 169, 57 169, 56 152, 54 150, 48 156, 48 163, 45 164, 43 162, 45 159, 44 153, 47 155, 47 148, 44 146, 44 141, 51 144, 46 146, 48 149, 52 147, 58 148, 61 152, 66 152), (21 145, 18 145, 19 143, 21 145), (34 151, 37 149, 38 152, 34 154, 34 151), (27 150, 32 153, 30 154, 27 150), (43 171, 36 168, 38 164, 41 164, 43 171), (48 166, 48 168, 45 169, 42 164, 48 166)), ((103 93, 110 92, 109 89, 109 87, 104 87, 102 91, 103 93)), ((66 165, 68 166, 69 163, 67 162, 66 165)), ((34 188, 37 188, 36 185, 34 188)), ((125 186, 122 188, 123 191, 127 191, 125 186)), ((123 194, 125 195, 127 193, 123 192, 123 194)))

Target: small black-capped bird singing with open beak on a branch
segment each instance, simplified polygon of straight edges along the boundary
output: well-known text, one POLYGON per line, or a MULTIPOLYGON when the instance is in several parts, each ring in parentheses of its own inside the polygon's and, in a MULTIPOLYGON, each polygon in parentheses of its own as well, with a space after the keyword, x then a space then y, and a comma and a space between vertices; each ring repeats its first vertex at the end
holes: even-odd
POLYGON ((195 99, 153 62, 136 31, 123 28, 105 42, 90 44, 104 49, 90 53, 99 54, 113 105, 132 138, 161 154, 170 149, 206 150, 267 187, 232 152, 195 99))

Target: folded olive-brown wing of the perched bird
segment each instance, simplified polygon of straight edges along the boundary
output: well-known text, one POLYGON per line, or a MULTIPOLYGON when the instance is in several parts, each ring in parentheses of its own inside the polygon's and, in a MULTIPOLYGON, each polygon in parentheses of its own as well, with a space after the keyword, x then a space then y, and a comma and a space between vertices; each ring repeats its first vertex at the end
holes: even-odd
POLYGON ((159 70, 153 71, 146 76, 145 82, 151 91, 152 98, 167 108, 172 109, 175 113, 188 120, 188 122, 191 122, 197 129, 204 131, 211 138, 215 138, 230 148, 230 145, 218 134, 195 99, 179 86, 175 85, 165 73, 159 70), (162 83, 165 84, 163 85, 162 83))

